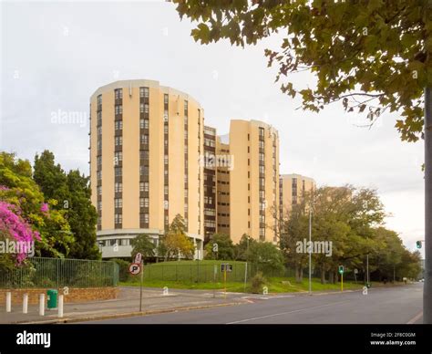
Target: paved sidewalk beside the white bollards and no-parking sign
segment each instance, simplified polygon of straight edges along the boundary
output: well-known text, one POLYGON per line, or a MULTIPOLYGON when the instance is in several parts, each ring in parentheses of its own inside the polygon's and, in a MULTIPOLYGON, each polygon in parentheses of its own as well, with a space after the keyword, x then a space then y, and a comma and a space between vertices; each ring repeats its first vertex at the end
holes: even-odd
MULTIPOLYGON (((162 289, 144 288, 142 292, 142 312, 160 313, 190 308, 233 306, 248 303, 245 294, 173 289, 168 295, 162 289), (214 296, 214 297, 213 297, 214 296)), ((45 311, 45 316, 38 314, 37 305, 29 306, 28 313, 22 313, 22 306, 15 305, 11 313, 0 309, 0 324, 75 322, 97 318, 117 318, 139 315, 139 287, 120 287, 117 299, 70 303, 64 306, 63 318, 57 317, 56 310, 45 311)))

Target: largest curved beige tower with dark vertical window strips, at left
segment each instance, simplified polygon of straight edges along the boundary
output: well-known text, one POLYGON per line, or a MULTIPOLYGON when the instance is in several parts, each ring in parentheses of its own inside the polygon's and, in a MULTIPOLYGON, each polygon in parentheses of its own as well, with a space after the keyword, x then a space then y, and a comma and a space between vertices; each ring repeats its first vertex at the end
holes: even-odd
POLYGON ((159 235, 180 213, 202 256, 203 109, 153 80, 103 86, 90 102, 90 178, 104 258, 130 256, 130 239, 159 235))

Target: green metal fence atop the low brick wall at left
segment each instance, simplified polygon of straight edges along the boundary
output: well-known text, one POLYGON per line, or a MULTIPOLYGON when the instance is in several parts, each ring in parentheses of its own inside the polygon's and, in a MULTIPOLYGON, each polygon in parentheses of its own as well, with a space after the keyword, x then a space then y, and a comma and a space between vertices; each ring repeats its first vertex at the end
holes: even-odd
POLYGON ((114 262, 83 259, 28 258, 11 271, 0 270, 0 287, 99 287, 118 285, 114 262))

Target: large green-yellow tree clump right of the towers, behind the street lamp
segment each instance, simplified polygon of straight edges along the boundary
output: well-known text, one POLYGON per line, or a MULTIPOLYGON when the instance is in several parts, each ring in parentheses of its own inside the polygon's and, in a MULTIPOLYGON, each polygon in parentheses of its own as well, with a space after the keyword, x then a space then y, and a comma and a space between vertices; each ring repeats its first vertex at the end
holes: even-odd
POLYGON ((332 243, 330 256, 313 253, 314 267, 323 283, 327 276, 330 282, 336 281, 338 265, 350 272, 357 268, 365 277, 366 255, 377 280, 393 278, 394 272, 398 278, 418 276, 419 259, 406 250, 394 231, 386 229, 386 214, 376 192, 346 185, 306 193, 301 203, 293 205, 290 218, 283 220, 280 245, 285 262, 295 268, 297 281, 302 281, 302 269, 308 264, 308 251, 298 252, 297 243, 309 241, 310 210, 312 241, 332 243))

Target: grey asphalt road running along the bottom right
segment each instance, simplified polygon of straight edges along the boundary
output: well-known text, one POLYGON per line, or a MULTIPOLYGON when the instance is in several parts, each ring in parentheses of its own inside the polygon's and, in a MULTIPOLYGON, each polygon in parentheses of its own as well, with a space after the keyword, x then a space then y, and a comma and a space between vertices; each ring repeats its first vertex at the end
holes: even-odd
MULTIPOLYGON (((100 324, 406 324, 422 323, 423 284, 316 296, 250 297, 239 306, 179 311, 100 324)), ((90 322, 86 322, 90 323, 90 322)))

